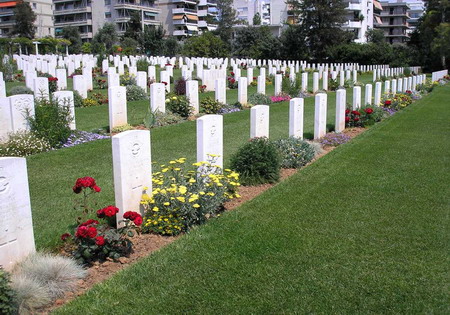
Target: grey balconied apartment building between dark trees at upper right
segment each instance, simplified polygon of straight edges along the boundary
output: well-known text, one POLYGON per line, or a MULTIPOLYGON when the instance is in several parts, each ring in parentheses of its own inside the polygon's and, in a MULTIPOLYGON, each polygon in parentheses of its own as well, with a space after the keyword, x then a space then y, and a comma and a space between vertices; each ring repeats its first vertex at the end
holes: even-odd
POLYGON ((390 44, 403 44, 409 39, 408 15, 409 6, 406 2, 397 0, 396 2, 381 2, 383 11, 381 12, 381 25, 378 29, 383 30, 386 41, 390 44))

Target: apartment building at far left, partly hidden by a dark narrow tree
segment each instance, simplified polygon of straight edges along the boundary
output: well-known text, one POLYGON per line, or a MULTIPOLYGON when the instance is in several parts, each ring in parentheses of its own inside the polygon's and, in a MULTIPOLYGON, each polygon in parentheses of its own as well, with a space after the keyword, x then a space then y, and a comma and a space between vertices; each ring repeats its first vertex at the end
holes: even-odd
MULTIPOLYGON (((14 8, 18 1, 0 0, 0 37, 7 37, 14 20, 14 8)), ((54 36, 52 0, 25 0, 36 13, 36 38, 54 36)))

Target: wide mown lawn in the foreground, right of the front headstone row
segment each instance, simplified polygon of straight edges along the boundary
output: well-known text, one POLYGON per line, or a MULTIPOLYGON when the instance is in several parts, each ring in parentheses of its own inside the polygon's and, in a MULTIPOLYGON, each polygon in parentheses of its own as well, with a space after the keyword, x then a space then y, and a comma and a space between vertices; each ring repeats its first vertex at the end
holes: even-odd
POLYGON ((57 314, 448 313, 450 86, 57 314))

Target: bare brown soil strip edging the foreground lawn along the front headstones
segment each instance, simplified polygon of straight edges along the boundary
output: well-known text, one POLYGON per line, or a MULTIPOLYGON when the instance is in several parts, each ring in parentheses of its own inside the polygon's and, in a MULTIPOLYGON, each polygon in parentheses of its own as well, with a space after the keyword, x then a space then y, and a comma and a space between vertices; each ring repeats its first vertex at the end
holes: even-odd
MULTIPOLYGON (((142 128, 142 127, 141 127, 142 128)), ((141 129, 139 128, 139 129, 141 129)), ((145 127, 144 127, 145 128, 145 127)), ((142 129, 144 129, 142 128, 142 129)), ((141 129, 141 130, 142 130, 141 129)), ((364 132, 364 128, 352 128, 345 129, 344 133, 349 135, 351 138, 356 137, 357 135, 364 132)), ((317 156, 313 161, 319 159, 324 156, 328 152, 331 152, 335 147, 325 146, 324 152, 317 156)), ((280 181, 285 180, 286 178, 294 175, 299 169, 282 169, 280 174, 280 181)), ((227 211, 233 210, 243 203, 252 200, 253 198, 259 196, 264 191, 269 188, 275 186, 276 184, 263 184, 258 186, 242 186, 239 188, 239 195, 241 198, 232 199, 225 203, 225 209, 227 211)), ((94 284, 104 281, 110 278, 117 271, 126 268, 127 266, 135 263, 143 257, 148 256, 149 254, 157 251, 158 249, 172 243, 178 237, 168 237, 168 236, 160 236, 154 234, 141 234, 137 235, 133 238, 133 253, 130 254, 129 257, 122 257, 119 259, 119 262, 113 261, 105 261, 103 263, 95 263, 93 266, 88 268, 88 276, 84 280, 80 280, 78 282, 78 288, 76 292, 69 292, 63 298, 58 299, 54 302, 53 305, 39 312, 40 314, 48 314, 55 308, 73 300, 77 296, 82 295, 85 291, 92 288, 94 284)), ((62 249, 62 254, 67 255, 67 250, 62 249)))

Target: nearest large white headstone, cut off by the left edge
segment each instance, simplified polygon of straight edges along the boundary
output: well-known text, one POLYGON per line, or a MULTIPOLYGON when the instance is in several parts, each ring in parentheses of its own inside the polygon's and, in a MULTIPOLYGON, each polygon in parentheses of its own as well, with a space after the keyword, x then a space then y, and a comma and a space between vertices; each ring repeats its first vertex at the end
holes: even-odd
POLYGON ((0 266, 11 270, 34 251, 26 159, 0 157, 0 266))

